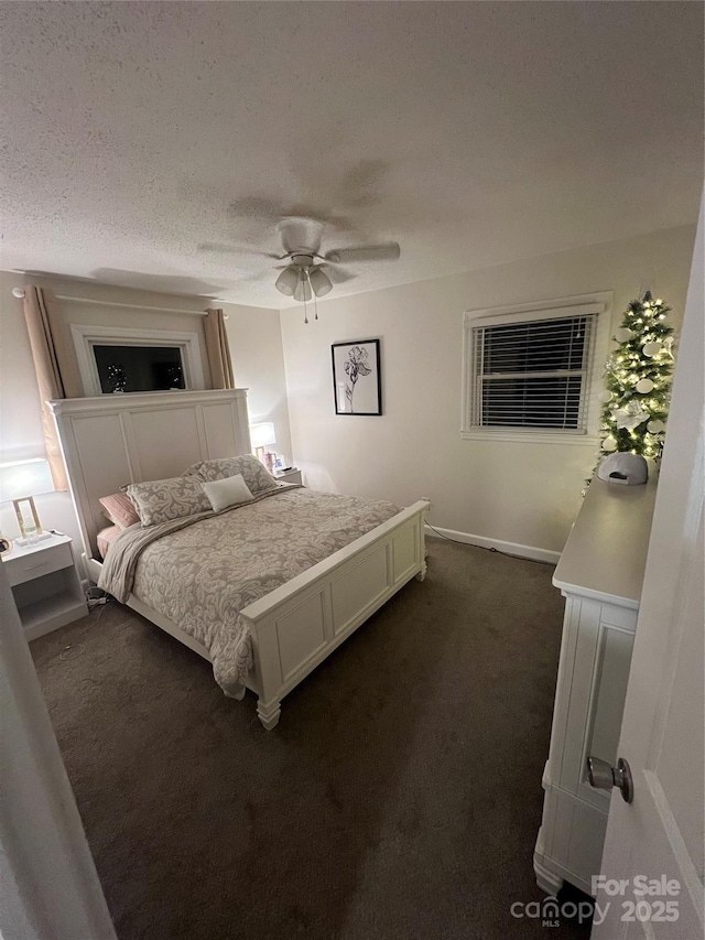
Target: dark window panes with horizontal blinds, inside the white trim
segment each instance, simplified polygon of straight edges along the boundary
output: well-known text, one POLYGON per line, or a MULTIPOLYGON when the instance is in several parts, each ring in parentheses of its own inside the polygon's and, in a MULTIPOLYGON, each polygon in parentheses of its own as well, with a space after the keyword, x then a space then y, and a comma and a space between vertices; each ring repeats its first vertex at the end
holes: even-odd
POLYGON ((475 326, 470 425, 585 433, 596 318, 475 326))

